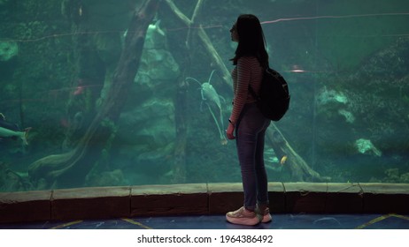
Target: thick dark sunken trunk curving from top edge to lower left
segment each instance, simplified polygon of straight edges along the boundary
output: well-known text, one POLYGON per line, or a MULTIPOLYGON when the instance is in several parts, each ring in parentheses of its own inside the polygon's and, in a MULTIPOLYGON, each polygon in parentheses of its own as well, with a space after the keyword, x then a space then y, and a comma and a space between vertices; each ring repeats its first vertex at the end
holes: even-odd
POLYGON ((112 135, 132 86, 142 56, 146 30, 157 12, 159 0, 146 0, 128 26, 125 45, 112 79, 112 87, 77 146, 68 153, 53 154, 28 167, 30 180, 44 187, 82 186, 104 144, 112 135), (106 124, 108 123, 108 124, 106 124), (45 183, 45 184, 44 184, 45 183))

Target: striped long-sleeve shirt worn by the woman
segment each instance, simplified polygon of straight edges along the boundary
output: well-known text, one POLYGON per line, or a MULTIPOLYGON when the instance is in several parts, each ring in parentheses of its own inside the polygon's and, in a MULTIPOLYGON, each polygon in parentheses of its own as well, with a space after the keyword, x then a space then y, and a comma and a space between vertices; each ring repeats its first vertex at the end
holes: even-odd
POLYGON ((236 123, 245 103, 256 101, 249 92, 249 84, 256 94, 259 94, 263 68, 255 56, 242 56, 238 59, 235 69, 232 71, 233 78, 233 110, 230 121, 236 123))

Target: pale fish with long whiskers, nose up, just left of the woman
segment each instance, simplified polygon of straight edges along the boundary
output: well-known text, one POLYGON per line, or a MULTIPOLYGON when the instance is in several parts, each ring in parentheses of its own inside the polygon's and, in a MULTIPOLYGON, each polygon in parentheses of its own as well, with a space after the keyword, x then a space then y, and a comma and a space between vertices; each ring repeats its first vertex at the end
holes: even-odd
POLYGON ((214 123, 216 123, 217 129, 219 131, 220 135, 220 142, 222 145, 226 145, 228 143, 228 140, 226 139, 226 136, 223 132, 224 129, 224 124, 223 124, 223 110, 221 109, 221 101, 224 101, 223 97, 221 97, 219 94, 217 94, 216 90, 211 84, 212 80, 212 75, 214 71, 210 74, 209 80, 205 81, 204 83, 200 83, 197 79, 188 77, 186 79, 191 79, 196 81, 199 86, 200 86, 200 94, 202 95, 202 102, 200 103, 200 109, 203 110, 203 105, 205 104, 207 106, 207 109, 209 109, 210 114, 213 117, 214 123), (221 100, 221 101, 220 101, 221 100), (218 113, 220 119, 218 120, 216 115, 214 114, 212 107, 210 104, 213 104, 217 106, 218 113))

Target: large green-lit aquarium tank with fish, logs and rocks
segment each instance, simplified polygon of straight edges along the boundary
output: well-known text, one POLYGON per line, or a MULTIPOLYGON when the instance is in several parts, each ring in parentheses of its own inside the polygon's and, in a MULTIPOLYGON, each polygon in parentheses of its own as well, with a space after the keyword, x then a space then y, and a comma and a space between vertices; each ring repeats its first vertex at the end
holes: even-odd
POLYGON ((241 182, 242 13, 291 94, 268 180, 409 183, 409 1, 1 0, 0 191, 241 182))

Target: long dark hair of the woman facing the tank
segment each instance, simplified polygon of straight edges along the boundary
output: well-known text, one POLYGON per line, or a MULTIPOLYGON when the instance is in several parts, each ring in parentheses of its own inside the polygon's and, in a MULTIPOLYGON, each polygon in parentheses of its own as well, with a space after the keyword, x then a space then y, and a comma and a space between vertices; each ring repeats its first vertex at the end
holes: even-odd
POLYGON ((259 63, 266 67, 268 65, 268 54, 266 51, 266 39, 259 19, 255 15, 242 14, 235 22, 238 34, 238 45, 235 49, 233 64, 242 56, 256 56, 259 63))

